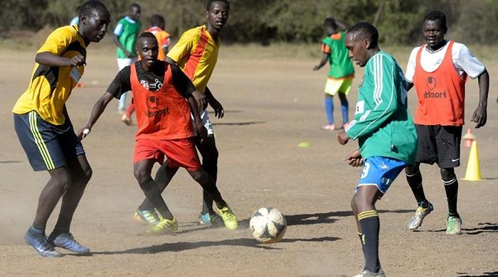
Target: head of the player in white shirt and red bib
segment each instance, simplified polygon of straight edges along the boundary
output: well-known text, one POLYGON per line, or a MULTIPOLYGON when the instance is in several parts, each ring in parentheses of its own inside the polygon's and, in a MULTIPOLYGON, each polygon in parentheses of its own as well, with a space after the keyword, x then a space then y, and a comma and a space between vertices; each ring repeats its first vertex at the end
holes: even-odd
POLYGON ((442 11, 428 11, 423 17, 423 36, 430 47, 443 44, 447 31, 446 16, 442 11))

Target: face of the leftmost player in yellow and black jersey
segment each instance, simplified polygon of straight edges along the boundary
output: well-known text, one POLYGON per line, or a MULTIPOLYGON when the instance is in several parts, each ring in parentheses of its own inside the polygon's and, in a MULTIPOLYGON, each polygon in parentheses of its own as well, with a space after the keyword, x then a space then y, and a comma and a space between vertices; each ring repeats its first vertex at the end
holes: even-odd
POLYGON ((91 42, 98 43, 102 38, 104 38, 105 33, 107 33, 107 28, 110 23, 110 13, 106 10, 97 9, 92 12, 90 16, 83 16, 81 18, 82 28, 84 30, 85 38, 91 42))

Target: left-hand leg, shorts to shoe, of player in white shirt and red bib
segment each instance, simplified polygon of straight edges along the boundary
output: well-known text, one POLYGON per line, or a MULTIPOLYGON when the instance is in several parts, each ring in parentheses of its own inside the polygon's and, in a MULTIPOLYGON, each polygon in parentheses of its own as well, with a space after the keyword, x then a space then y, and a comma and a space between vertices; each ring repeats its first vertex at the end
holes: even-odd
POLYGON ((425 197, 423 190, 422 173, 420 163, 433 164, 437 161, 438 151, 435 146, 434 126, 415 124, 418 136, 417 163, 405 168, 406 181, 410 185, 413 196, 417 201, 417 210, 408 222, 408 229, 415 230, 422 225, 425 216, 434 210, 433 205, 425 197))

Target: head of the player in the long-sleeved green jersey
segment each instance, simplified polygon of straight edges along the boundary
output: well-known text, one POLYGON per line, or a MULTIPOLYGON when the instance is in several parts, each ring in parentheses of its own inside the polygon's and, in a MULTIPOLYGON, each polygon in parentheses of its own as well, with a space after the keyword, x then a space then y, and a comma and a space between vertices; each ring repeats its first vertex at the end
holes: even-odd
POLYGON ((344 44, 349 50, 349 58, 357 65, 364 67, 371 58, 370 50, 378 49, 378 31, 370 23, 360 22, 346 31, 344 44))

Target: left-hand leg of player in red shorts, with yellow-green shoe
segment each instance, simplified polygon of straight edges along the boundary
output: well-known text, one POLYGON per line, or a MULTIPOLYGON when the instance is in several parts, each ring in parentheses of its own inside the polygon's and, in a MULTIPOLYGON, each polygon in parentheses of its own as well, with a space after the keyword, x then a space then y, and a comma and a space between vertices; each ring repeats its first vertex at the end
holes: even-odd
POLYGON ((133 174, 137 179, 140 188, 144 192, 145 197, 149 200, 154 208, 159 212, 158 223, 149 229, 150 233, 161 233, 167 231, 176 231, 178 223, 176 218, 171 214, 166 202, 161 197, 161 190, 156 182, 152 179, 151 172, 152 166, 156 160, 149 158, 136 161, 133 165, 133 174))

